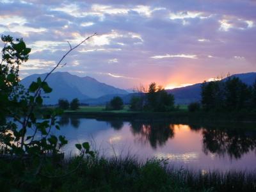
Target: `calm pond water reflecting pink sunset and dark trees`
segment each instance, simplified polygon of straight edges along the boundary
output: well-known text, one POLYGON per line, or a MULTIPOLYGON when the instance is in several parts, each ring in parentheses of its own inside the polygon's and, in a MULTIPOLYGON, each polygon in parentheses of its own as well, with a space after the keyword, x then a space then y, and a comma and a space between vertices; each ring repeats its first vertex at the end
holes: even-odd
POLYGON ((202 170, 256 170, 256 125, 189 125, 166 121, 96 120, 63 116, 65 153, 90 141, 105 156, 166 158, 174 166, 202 170))

